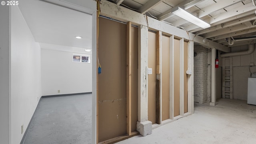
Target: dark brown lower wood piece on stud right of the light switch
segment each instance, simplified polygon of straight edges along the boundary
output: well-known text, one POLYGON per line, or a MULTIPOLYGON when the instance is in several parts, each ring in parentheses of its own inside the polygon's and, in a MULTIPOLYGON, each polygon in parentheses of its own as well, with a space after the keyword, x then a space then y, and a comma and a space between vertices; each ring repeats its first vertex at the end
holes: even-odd
POLYGON ((160 79, 156 80, 156 123, 161 124, 160 79))

